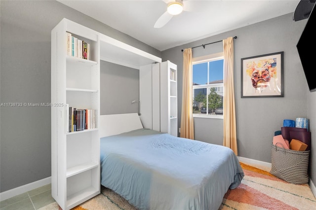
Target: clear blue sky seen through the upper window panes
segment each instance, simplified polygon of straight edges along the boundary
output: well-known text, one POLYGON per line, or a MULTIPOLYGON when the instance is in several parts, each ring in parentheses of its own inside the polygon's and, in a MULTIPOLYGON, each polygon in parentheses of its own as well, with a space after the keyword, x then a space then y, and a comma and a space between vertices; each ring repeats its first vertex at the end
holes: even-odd
MULTIPOLYGON (((223 79, 223 62, 224 60, 209 62, 209 81, 223 79)), ((207 83, 207 63, 193 65, 193 82, 197 84, 207 83)))

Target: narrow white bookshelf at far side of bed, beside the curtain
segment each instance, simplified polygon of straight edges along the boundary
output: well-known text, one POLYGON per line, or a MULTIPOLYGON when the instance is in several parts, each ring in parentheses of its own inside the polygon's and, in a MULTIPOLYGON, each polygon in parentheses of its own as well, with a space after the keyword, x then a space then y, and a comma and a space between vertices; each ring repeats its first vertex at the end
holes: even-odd
POLYGON ((178 136, 177 65, 160 66, 160 131, 178 136))

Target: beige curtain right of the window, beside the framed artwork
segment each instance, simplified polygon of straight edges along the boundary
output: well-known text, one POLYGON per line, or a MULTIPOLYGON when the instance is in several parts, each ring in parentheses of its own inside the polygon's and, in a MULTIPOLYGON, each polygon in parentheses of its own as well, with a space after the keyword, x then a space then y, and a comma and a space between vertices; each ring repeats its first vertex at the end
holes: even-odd
POLYGON ((234 89, 234 39, 223 40, 224 48, 224 140, 223 145, 237 155, 236 107, 234 89))

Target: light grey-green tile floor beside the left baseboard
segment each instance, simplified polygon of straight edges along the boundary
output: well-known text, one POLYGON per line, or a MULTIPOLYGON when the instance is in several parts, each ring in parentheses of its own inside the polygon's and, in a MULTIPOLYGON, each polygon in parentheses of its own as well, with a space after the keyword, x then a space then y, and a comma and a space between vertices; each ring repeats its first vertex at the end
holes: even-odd
POLYGON ((0 202, 0 210, 38 210, 55 202, 51 185, 47 184, 0 202))

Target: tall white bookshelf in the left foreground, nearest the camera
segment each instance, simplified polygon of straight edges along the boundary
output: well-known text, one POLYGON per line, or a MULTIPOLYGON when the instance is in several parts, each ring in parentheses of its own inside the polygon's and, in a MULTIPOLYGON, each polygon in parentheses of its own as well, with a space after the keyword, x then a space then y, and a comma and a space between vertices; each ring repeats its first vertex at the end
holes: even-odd
POLYGON ((63 19, 51 32, 51 192, 63 210, 100 194, 100 139, 97 128, 67 132, 66 104, 100 113, 99 35, 63 19), (89 59, 66 53, 66 32, 90 44, 89 59))

